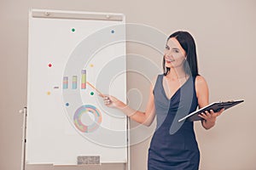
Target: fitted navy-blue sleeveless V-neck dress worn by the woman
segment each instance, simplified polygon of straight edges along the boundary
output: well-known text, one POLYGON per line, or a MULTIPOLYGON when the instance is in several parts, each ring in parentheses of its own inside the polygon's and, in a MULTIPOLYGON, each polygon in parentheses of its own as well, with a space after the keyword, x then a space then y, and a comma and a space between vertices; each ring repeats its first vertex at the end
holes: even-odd
POLYGON ((148 149, 148 170, 197 170, 200 151, 194 122, 177 122, 198 106, 195 77, 189 77, 171 99, 166 97, 163 77, 157 77, 153 90, 157 127, 148 149))

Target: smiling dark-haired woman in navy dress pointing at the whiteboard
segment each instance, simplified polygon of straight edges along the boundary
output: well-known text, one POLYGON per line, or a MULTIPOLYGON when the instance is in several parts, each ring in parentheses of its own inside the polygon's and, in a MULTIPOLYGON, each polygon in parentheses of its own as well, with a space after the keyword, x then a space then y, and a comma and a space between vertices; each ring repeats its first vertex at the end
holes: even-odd
MULTIPOLYGON (((135 111, 109 95, 102 96, 104 103, 146 126, 156 116, 157 128, 148 150, 148 170, 197 170, 200 151, 194 122, 177 123, 178 115, 187 115, 197 106, 209 104, 207 82, 198 74, 195 41, 189 32, 177 31, 168 37, 163 70, 150 87, 146 111, 135 111), (189 109, 185 110, 186 107, 189 109), (176 129, 173 131, 172 127, 176 129)), ((223 111, 201 113, 202 127, 213 127, 223 111)))

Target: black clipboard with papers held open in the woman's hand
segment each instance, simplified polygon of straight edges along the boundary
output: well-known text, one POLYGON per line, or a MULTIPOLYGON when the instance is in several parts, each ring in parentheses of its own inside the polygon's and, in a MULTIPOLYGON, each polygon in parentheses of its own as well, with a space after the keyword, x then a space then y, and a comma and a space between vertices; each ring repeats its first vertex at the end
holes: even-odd
POLYGON ((204 111, 210 111, 213 110, 214 112, 218 112, 221 109, 229 109, 230 107, 233 107, 235 105, 241 104, 244 100, 236 100, 236 101, 226 101, 226 102, 214 102, 210 105, 207 105, 203 108, 201 108, 200 110, 194 111, 192 113, 189 113, 189 115, 184 116, 183 118, 179 119, 178 122, 182 122, 186 119, 188 119, 190 122, 193 121, 200 121, 202 120, 202 118, 200 116, 198 116, 198 114, 200 114, 201 112, 204 111))

